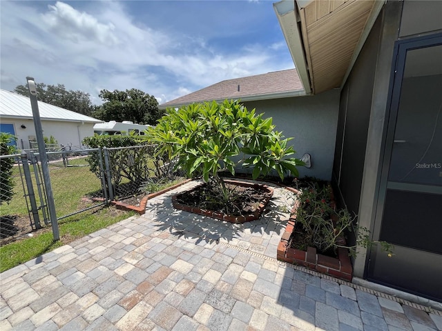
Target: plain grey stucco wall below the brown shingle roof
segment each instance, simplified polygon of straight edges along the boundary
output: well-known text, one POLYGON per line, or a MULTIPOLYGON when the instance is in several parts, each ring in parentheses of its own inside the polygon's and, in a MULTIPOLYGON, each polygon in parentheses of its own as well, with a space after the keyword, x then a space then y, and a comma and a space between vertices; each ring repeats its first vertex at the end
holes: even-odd
POLYGON ((244 102, 248 110, 272 117, 276 130, 290 141, 295 157, 311 154, 312 167, 299 167, 300 177, 313 176, 332 179, 336 124, 338 121, 339 91, 332 90, 311 97, 292 97, 244 102))

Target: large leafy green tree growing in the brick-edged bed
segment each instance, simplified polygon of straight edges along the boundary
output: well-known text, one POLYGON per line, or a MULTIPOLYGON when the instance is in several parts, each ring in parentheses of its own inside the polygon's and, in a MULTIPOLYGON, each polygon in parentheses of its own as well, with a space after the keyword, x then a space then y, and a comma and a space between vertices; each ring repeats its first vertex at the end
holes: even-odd
POLYGON ((218 172, 235 174, 238 165, 253 167, 253 179, 271 170, 281 179, 287 172, 298 176, 296 166, 303 163, 289 158, 295 151, 271 121, 239 101, 195 103, 177 111, 169 109, 145 137, 159 143, 157 155, 175 159, 189 177, 202 175, 227 197, 231 194, 218 172))

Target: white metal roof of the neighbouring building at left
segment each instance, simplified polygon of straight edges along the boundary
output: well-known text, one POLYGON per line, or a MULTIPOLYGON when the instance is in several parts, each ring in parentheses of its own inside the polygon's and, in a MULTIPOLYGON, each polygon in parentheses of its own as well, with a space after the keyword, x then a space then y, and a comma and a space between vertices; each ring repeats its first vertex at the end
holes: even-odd
MULTIPOLYGON (((102 123, 99 119, 52 106, 41 101, 39 101, 39 113, 40 118, 46 120, 102 123)), ((29 98, 6 90, 0 90, 0 116, 32 119, 33 115, 29 98)))

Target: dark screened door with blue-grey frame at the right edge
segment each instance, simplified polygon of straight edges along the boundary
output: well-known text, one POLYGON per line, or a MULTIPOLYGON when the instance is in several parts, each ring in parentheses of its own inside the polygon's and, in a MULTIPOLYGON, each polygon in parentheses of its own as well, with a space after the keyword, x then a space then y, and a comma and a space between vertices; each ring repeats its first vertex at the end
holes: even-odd
POLYGON ((442 301, 442 36, 398 41, 367 278, 442 301))

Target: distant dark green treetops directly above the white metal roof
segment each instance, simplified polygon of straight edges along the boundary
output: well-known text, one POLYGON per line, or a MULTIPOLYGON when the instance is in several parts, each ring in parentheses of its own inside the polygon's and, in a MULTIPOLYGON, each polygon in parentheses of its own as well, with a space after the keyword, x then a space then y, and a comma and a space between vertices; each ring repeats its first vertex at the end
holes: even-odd
MULTIPOLYGON (((14 89, 14 92, 29 97, 27 86, 19 85, 14 89)), ((63 84, 55 86, 37 83, 37 99, 87 116, 92 116, 95 110, 89 93, 80 90, 66 90, 63 84)))

